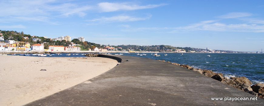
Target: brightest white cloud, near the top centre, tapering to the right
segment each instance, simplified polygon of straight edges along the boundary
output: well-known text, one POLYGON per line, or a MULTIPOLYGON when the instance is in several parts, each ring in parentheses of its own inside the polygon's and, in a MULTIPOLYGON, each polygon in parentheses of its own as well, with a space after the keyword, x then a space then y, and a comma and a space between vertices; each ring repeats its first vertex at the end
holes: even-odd
POLYGON ((160 5, 135 5, 129 3, 109 3, 102 2, 98 4, 99 9, 102 12, 113 12, 118 10, 137 10, 137 9, 146 9, 146 8, 155 8, 168 4, 160 4, 160 5))

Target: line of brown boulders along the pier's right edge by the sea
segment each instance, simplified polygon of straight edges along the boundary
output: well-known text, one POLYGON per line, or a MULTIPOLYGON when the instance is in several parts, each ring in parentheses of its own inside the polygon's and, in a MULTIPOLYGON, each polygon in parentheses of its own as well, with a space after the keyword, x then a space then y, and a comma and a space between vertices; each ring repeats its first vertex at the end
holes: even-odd
MULTIPOLYGON (((159 60, 159 61, 164 61, 164 60, 159 60)), ((164 61, 171 63, 170 61, 164 61)), ((240 89, 242 91, 245 91, 247 93, 253 94, 258 96, 259 98, 264 99, 264 84, 263 83, 257 83, 252 85, 252 82, 249 81, 248 78, 242 76, 242 77, 223 77, 222 73, 215 73, 212 70, 205 70, 205 69, 200 69, 200 68, 193 68, 189 65, 180 65, 178 63, 171 63, 174 65, 179 65, 184 68, 188 68, 192 71, 198 72, 202 75, 208 76, 210 78, 213 78, 215 80, 221 81, 222 83, 228 84, 232 87, 235 87, 237 89, 240 89), (252 86, 250 86, 252 85, 252 86)))

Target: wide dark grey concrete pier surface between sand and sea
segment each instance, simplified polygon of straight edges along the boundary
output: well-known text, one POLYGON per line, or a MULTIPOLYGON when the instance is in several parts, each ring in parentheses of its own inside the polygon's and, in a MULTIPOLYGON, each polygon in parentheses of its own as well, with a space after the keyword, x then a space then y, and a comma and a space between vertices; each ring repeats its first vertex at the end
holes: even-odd
POLYGON ((148 58, 100 55, 122 61, 111 70, 25 106, 255 105, 257 101, 212 101, 212 97, 256 98, 187 68, 148 58), (122 60, 121 60, 122 59, 122 60))

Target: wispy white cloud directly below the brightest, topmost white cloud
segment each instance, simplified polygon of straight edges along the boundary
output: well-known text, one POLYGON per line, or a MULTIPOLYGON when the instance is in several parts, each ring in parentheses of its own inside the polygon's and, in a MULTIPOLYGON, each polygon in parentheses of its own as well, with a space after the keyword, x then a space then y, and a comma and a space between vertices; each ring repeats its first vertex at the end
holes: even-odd
POLYGON ((128 16, 128 15, 118 15, 118 16, 113 16, 113 17, 101 17, 101 18, 96 18, 93 20, 87 20, 87 21, 92 21, 92 22, 130 22, 130 21, 141 21, 141 20, 146 20, 151 18, 151 15, 145 18, 138 18, 138 17, 133 17, 133 16, 128 16))

